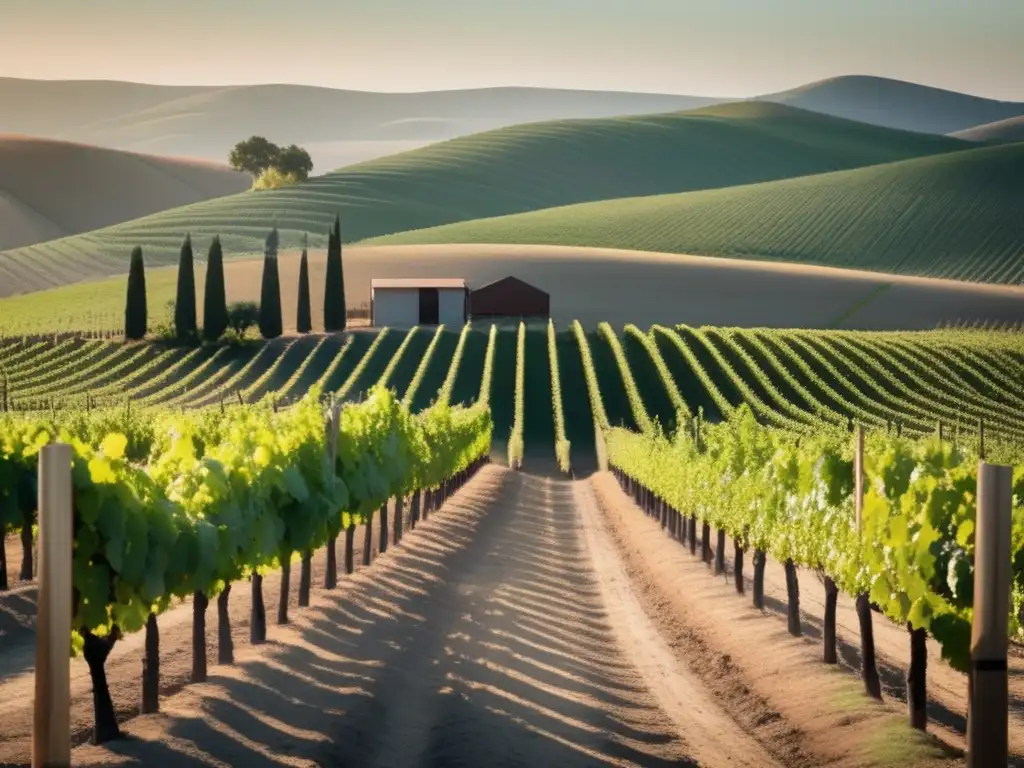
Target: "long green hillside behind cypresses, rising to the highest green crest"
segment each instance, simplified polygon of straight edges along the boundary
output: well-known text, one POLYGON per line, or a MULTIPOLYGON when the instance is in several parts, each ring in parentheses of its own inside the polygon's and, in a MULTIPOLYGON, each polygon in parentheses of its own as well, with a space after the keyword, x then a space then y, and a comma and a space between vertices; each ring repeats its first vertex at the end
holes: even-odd
MULTIPOLYGON (((350 166, 300 186, 244 193, 0 254, 6 293, 126 270, 141 245, 173 263, 186 230, 204 249, 262 251, 309 230, 319 246, 340 210, 346 242, 582 202, 709 189, 958 150, 944 136, 894 131, 771 103, 689 113, 532 123, 350 166)), ((2 289, 0 289, 2 290, 2 289)))

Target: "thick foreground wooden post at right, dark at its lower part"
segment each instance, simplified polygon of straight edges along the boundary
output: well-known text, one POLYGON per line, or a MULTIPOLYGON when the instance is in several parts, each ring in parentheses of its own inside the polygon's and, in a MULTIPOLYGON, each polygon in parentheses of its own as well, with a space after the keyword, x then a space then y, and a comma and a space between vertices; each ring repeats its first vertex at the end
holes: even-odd
POLYGON ((968 768, 1007 765, 1009 754, 1010 540, 1013 467, 978 462, 974 621, 967 721, 968 768))

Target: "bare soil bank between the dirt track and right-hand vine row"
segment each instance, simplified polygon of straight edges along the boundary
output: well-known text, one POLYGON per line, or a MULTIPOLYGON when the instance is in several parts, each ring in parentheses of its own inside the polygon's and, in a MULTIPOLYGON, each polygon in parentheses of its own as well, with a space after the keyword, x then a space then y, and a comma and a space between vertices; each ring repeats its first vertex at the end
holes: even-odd
MULTIPOLYGON (((695 675, 753 735, 775 745, 784 765, 963 764, 954 751, 910 729, 895 702, 870 699, 852 675, 822 664, 819 643, 791 636, 784 613, 756 610, 749 588, 743 598, 714 578, 611 474, 589 483, 648 612, 695 675)), ((773 583, 767 597, 777 604, 776 592, 773 583)))

